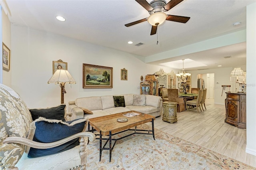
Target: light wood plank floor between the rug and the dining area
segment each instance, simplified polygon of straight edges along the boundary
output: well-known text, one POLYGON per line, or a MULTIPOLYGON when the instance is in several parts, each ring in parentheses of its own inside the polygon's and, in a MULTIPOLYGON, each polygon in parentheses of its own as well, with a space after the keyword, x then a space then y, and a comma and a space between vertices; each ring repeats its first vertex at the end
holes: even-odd
POLYGON ((225 123, 225 106, 214 105, 213 99, 206 99, 206 109, 201 113, 195 108, 177 113, 176 123, 158 117, 154 127, 256 167, 256 156, 245 152, 246 129, 225 123))

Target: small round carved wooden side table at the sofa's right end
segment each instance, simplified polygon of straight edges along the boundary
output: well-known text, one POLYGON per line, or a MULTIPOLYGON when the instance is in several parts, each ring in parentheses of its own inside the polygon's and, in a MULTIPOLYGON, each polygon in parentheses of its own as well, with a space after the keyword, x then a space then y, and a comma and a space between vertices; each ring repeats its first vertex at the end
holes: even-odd
POLYGON ((163 115, 162 120, 169 122, 169 123, 175 123, 178 121, 177 119, 177 104, 176 102, 172 101, 164 101, 163 102, 163 115))

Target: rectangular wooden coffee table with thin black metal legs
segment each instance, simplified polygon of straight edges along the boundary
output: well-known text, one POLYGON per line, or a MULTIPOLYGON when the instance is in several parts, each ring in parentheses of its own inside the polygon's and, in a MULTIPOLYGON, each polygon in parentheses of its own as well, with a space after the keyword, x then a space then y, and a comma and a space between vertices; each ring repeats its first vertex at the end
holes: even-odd
POLYGON ((127 136, 131 136, 133 134, 150 134, 150 135, 153 135, 153 138, 155 140, 155 136, 154 136, 154 120, 155 119, 156 118, 154 116, 140 113, 137 111, 128 111, 128 112, 116 113, 116 114, 112 114, 112 115, 88 119, 88 121, 89 121, 88 130, 90 130, 90 126, 92 126, 92 132, 95 129, 100 133, 100 134, 96 134, 96 135, 100 135, 100 138, 96 138, 96 139, 100 139, 100 160, 101 160, 102 150, 109 150, 109 162, 110 162, 111 161, 111 152, 116 144, 116 141, 120 140, 122 138, 125 138, 127 136), (133 116, 133 117, 124 116, 124 114, 129 114, 129 113, 137 113, 138 115, 133 116), (120 120, 121 122, 118 122, 117 121, 118 119, 121 119, 120 120), (128 119, 128 121, 126 121, 125 119, 128 119), (148 122, 152 122, 152 130, 137 129, 138 125, 142 125, 142 124, 148 123, 148 122), (130 129, 132 127, 135 127, 135 128, 130 129), (131 134, 128 134, 126 136, 123 136, 121 138, 112 139, 113 135, 121 133, 121 132, 125 132, 127 130, 133 130, 134 132, 131 134), (138 132, 138 131, 140 131, 140 132, 138 132), (143 132, 143 131, 146 131, 146 132, 143 132), (108 138, 102 138, 102 136, 108 136, 108 138), (102 139, 107 140, 103 147, 102 147, 102 139), (115 141, 113 146, 112 146, 112 140, 115 141), (105 146, 108 142, 109 142, 109 148, 106 148, 105 146))

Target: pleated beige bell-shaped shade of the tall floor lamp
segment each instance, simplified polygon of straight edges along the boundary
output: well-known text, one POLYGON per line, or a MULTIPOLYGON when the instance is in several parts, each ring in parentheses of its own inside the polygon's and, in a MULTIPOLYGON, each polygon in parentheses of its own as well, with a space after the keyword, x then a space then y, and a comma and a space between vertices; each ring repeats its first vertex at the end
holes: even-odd
POLYGON ((64 69, 57 69, 55 73, 52 75, 52 77, 48 80, 48 83, 70 83, 70 84, 76 84, 76 81, 73 79, 73 77, 70 75, 68 70, 64 69))

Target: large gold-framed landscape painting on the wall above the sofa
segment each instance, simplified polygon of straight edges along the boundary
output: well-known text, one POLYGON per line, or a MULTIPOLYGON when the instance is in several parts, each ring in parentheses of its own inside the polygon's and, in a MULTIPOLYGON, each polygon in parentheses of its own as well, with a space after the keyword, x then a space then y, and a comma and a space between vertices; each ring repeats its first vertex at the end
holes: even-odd
POLYGON ((83 88, 113 88, 113 68, 83 63, 83 88))

